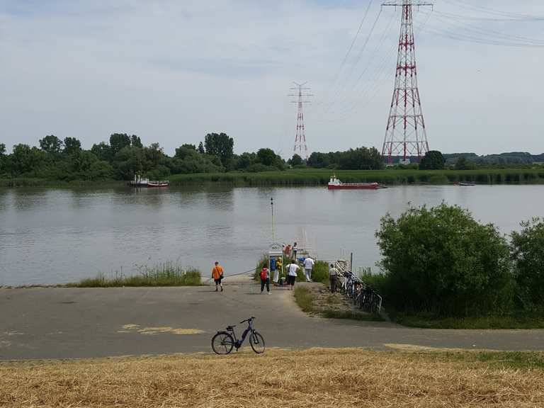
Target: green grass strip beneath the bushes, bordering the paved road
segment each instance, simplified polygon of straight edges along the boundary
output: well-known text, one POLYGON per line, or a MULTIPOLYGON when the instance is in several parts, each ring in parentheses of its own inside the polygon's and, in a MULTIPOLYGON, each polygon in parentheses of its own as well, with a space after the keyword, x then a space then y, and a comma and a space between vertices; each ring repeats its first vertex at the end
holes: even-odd
POLYGON ((407 327, 423 329, 544 329, 542 314, 509 314, 505 316, 436 317, 432 314, 390 312, 392 321, 407 327))

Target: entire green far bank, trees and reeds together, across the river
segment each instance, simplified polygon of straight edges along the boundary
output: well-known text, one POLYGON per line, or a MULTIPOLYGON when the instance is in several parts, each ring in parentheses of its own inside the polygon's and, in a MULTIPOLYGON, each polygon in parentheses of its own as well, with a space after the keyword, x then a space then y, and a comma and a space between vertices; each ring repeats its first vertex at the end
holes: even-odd
MULTIPOLYGON (((345 152, 313 152, 307 161, 295 154, 285 161, 272 149, 234 153, 234 139, 209 133, 197 145, 183 144, 169 156, 158 143, 142 144, 137 135, 114 133, 108 142, 86 150, 74 137, 47 135, 39 147, 15 145, 11 152, 0 143, 0 187, 74 186, 132 180, 135 175, 186 183, 229 183, 237 186, 318 186, 336 172, 344 182, 398 184, 544 183, 540 156, 496 155, 471 162, 471 154, 448 155, 431 151, 421 164, 397 163, 385 168, 375 148, 357 147, 345 152), (521 158, 520 158, 521 157, 521 158), (529 162, 533 159, 533 162, 529 162)), ((416 159, 416 158, 412 158, 416 159)))

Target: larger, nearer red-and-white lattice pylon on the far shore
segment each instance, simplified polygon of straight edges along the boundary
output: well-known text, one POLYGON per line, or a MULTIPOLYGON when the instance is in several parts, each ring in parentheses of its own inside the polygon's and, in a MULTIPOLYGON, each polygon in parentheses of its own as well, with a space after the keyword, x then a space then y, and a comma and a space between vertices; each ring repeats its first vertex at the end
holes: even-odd
POLYGON ((411 157, 418 161, 429 152, 429 142, 421 98, 417 87, 416 45, 414 40, 414 6, 433 6, 413 0, 386 1, 383 6, 398 6, 402 9, 399 35, 399 55, 395 74, 395 89, 391 101, 387 130, 383 142, 382 156, 392 163, 400 157, 404 163, 411 157))

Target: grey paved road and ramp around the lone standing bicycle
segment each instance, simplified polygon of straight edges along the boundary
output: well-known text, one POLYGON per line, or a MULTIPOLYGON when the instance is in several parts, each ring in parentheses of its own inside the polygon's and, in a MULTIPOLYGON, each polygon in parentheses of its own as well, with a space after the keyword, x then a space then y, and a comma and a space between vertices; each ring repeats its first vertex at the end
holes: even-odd
POLYGON ((285 289, 261 295, 249 280, 234 278, 226 279, 223 293, 214 289, 0 289, 0 360, 210 353, 218 329, 249 316, 268 347, 544 350, 544 330, 409 329, 322 319, 301 312, 285 289))

